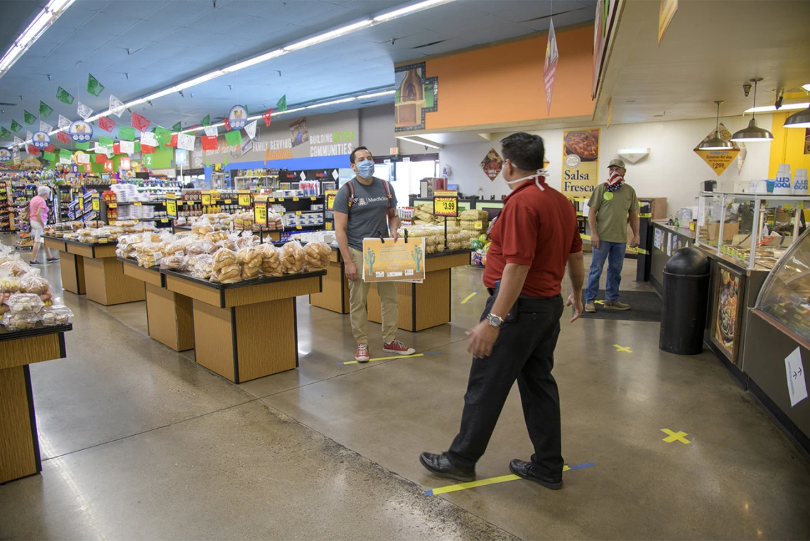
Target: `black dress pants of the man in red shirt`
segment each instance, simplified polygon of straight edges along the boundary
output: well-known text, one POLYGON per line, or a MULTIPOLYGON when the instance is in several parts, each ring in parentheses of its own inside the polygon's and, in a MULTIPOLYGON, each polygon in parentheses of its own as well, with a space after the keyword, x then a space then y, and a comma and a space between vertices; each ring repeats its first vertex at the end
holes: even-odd
MULTIPOLYGON (((487 301, 481 321, 495 297, 487 301)), ((535 454, 531 462, 540 475, 561 478, 563 459, 560 435, 560 394, 552 376, 554 348, 560 335, 562 297, 521 296, 516 322, 505 322, 486 359, 473 359, 461 430, 448 451, 450 462, 472 470, 487 449, 515 380, 523 417, 535 454)))

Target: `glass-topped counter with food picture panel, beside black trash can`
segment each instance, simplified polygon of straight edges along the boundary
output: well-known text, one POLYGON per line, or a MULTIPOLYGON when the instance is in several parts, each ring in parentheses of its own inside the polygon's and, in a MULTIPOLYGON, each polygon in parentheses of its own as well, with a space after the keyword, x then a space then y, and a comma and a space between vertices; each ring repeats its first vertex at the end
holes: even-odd
POLYGON ((701 192, 696 247, 711 260, 704 341, 743 388, 751 309, 765 279, 806 228, 806 195, 701 192))

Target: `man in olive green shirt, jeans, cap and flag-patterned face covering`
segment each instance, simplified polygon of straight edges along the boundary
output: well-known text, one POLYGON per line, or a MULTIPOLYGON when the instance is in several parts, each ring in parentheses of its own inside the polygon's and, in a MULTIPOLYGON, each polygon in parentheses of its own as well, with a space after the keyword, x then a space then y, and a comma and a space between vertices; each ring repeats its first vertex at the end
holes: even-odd
POLYGON ((585 290, 585 311, 596 311, 596 295, 599 293, 599 278, 605 261, 608 261, 608 278, 605 283, 606 309, 627 310, 630 305, 619 302, 621 268, 625 264, 627 249, 627 222, 633 229, 630 245, 636 247, 638 238, 638 199, 633 186, 625 183, 625 162, 613 160, 608 165, 608 181, 596 187, 590 195, 588 224, 593 259, 590 262, 588 287, 585 290))

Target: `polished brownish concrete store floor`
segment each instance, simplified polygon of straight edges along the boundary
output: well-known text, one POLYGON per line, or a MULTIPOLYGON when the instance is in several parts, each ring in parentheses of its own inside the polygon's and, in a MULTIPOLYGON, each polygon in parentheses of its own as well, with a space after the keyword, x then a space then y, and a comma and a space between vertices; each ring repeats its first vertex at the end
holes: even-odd
MULTIPOLYGON (((59 283, 58 265, 44 274, 59 283)), ((0 486, 0 539, 810 538, 810 461, 718 360, 659 351, 657 323, 567 312, 563 452, 595 466, 558 492, 518 480, 425 496, 453 483, 418 456, 458 429, 480 275, 454 270, 450 325, 401 334, 437 355, 339 365, 348 318, 301 298, 301 368, 239 386, 149 339, 143 303, 59 292, 76 313, 68 356, 31 367, 43 471, 0 486)), ((628 260, 623 288, 649 288, 633 275, 628 260)), ((530 454, 514 389, 478 477, 530 454)))

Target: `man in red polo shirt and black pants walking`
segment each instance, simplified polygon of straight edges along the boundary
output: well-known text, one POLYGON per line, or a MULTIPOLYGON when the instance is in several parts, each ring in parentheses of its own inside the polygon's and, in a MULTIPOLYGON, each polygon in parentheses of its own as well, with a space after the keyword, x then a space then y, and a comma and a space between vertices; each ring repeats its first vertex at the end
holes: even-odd
POLYGON ((543 139, 518 133, 501 141, 503 177, 512 193, 492 226, 484 285, 490 292, 481 322, 467 332, 473 356, 461 430, 450 450, 423 453, 434 475, 471 481, 514 381, 535 447, 531 462, 509 470, 547 488, 562 487, 560 395, 552 376, 563 313, 561 282, 568 266, 571 322, 582 313, 582 240, 571 202, 545 184, 543 139))

